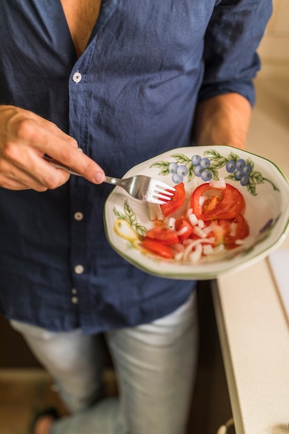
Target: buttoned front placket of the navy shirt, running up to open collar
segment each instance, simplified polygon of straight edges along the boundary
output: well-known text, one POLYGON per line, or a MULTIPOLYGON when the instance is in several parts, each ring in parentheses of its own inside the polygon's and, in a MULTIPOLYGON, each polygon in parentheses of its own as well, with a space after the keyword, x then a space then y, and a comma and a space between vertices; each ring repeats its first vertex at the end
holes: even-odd
MULTIPOLYGON (((91 40, 85 52, 78 59, 69 78, 69 134, 78 141, 83 153, 91 155, 88 141, 89 123, 89 68, 97 43, 98 33, 110 19, 119 0, 103 1, 98 21, 91 35, 91 40)), ((94 89, 96 92, 96 89, 94 89)), ((89 327, 91 295, 89 294, 89 252, 87 252, 87 236, 89 207, 89 182, 82 177, 71 176, 70 179, 70 268, 71 293, 70 303, 78 315, 80 327, 89 327)), ((94 264, 96 267, 96 264, 94 264)))

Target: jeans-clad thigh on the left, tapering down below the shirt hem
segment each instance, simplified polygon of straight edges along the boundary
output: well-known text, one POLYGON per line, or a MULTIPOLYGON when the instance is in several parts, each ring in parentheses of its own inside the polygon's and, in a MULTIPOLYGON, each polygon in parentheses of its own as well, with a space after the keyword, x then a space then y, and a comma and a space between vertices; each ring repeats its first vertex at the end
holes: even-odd
POLYGON ((18 321, 11 321, 11 325, 51 374, 68 410, 73 413, 102 397, 100 336, 83 336, 80 329, 53 333, 18 321))

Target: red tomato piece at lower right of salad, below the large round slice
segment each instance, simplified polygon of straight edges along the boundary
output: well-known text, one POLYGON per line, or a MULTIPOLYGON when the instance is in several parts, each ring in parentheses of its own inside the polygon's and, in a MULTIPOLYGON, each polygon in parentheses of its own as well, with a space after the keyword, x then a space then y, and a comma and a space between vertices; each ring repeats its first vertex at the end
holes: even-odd
POLYGON ((238 214, 235 218, 220 218, 218 221, 220 227, 224 229, 223 243, 227 249, 235 248, 236 240, 243 240, 249 235, 249 226, 242 214, 238 214))

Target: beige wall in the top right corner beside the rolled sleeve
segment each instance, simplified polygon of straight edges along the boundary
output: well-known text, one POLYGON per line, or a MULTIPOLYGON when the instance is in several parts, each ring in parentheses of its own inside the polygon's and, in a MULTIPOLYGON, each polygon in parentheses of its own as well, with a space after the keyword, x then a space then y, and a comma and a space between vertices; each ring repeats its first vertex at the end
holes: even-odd
POLYGON ((289 78, 289 0, 273 0, 273 13, 259 46, 260 76, 289 78))

